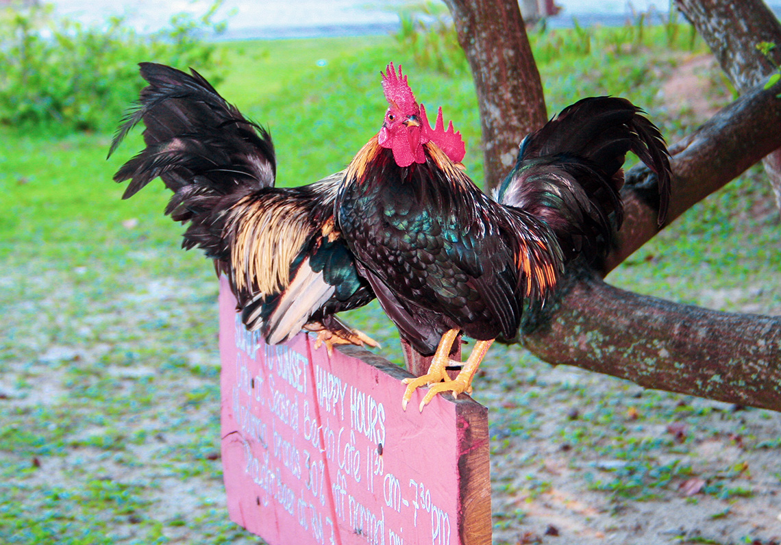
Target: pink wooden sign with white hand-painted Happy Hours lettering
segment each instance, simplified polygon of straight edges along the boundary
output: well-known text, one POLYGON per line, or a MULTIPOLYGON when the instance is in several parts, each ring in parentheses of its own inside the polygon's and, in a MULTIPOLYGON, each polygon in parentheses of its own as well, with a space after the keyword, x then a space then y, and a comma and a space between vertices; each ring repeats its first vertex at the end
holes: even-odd
POLYGON ((269 545, 487 545, 487 409, 437 396, 357 347, 266 345, 220 285, 222 455, 230 518, 269 545), (417 400, 417 401, 416 401, 417 400))

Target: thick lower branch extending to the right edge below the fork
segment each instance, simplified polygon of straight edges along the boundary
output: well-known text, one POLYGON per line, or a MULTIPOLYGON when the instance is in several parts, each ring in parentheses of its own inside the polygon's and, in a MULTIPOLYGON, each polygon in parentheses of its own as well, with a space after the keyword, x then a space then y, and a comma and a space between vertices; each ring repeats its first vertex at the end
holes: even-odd
POLYGON ((680 305, 588 272, 570 275, 563 293, 551 322, 522 340, 545 361, 781 411, 781 317, 680 305))

